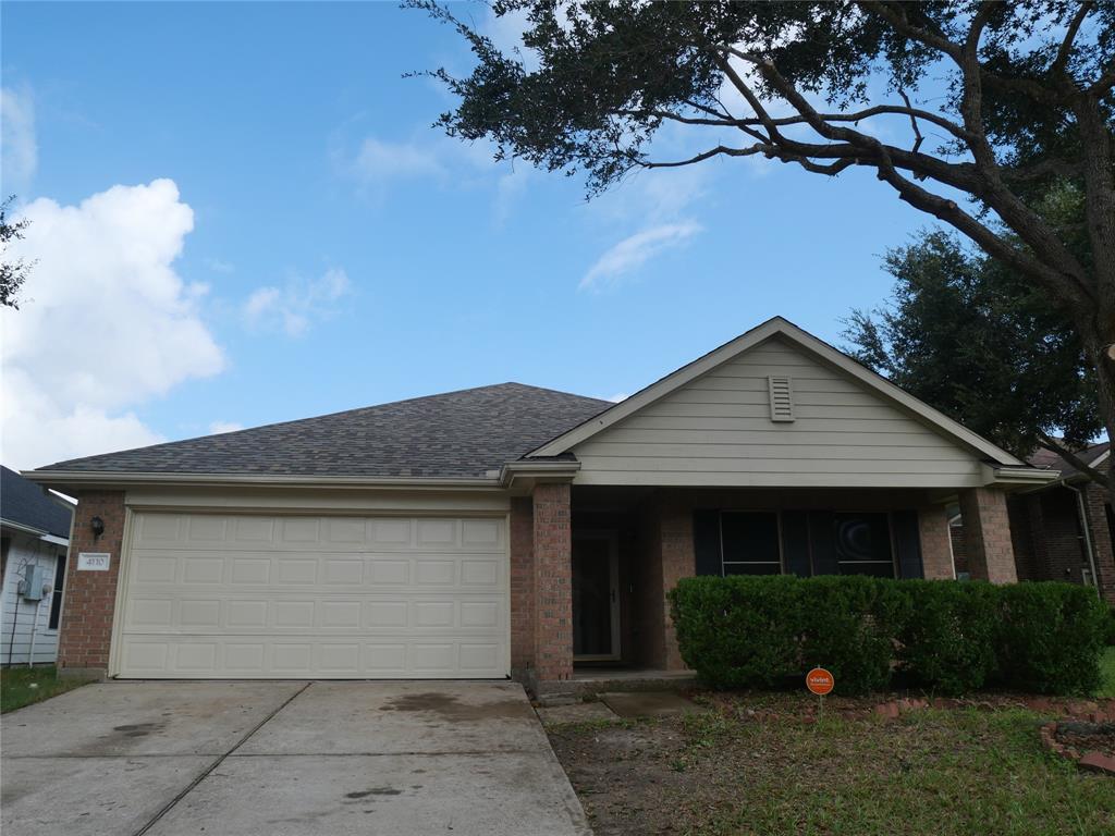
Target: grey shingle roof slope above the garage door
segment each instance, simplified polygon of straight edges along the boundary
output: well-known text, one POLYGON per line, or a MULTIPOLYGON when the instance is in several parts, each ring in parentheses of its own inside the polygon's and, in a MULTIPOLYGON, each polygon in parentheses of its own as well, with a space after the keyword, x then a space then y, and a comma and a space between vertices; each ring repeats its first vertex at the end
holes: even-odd
POLYGON ((523 383, 59 461, 40 472, 476 478, 612 406, 523 383))

